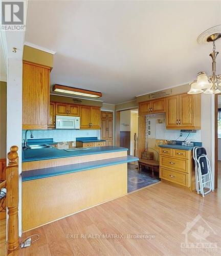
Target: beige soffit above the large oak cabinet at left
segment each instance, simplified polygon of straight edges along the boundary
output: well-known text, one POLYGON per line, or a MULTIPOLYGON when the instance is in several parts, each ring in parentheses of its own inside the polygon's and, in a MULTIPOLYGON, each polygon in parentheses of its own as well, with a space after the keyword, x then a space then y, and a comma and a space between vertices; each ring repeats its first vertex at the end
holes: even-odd
POLYGON ((53 68, 53 58, 54 55, 51 53, 24 46, 23 60, 53 68))

